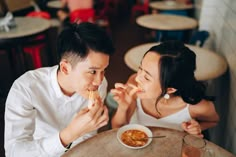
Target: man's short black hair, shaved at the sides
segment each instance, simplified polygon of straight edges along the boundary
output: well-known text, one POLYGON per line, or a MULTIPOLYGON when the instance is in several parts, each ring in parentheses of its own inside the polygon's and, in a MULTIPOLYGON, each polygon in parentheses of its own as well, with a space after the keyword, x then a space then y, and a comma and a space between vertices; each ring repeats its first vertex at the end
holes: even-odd
POLYGON ((58 36, 58 62, 65 56, 84 59, 89 50, 112 55, 114 47, 110 36, 96 24, 83 22, 70 24, 58 36))

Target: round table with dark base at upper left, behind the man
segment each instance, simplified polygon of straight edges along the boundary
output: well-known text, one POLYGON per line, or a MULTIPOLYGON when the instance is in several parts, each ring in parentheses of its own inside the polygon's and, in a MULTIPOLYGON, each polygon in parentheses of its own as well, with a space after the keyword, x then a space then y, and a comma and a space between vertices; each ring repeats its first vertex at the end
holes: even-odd
POLYGON ((8 52, 11 66, 14 66, 15 77, 18 77, 26 70, 23 57, 24 44, 29 42, 36 35, 47 31, 51 23, 49 20, 33 17, 15 17, 15 22, 17 25, 15 28, 10 29, 9 32, 0 32, 0 48, 8 52), (13 49, 15 49, 15 56, 11 56, 13 49), (14 58, 18 63, 14 61, 14 58), (18 68, 19 71, 16 71, 16 68, 18 68))

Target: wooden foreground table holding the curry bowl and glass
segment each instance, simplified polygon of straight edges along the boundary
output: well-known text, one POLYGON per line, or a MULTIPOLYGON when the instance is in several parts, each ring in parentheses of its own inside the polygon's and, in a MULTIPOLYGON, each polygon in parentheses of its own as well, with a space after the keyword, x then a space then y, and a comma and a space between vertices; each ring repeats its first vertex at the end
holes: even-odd
MULTIPOLYGON (((165 135, 165 138, 153 139, 151 144, 142 149, 129 149, 117 140, 117 129, 97 134, 76 145, 62 157, 180 157, 184 132, 150 127, 153 136, 165 135)), ((191 136, 192 137, 192 136, 191 136)), ((192 138, 194 139, 194 138, 192 138)), ((214 151, 216 157, 233 157, 223 148, 207 141, 207 148, 214 151)))

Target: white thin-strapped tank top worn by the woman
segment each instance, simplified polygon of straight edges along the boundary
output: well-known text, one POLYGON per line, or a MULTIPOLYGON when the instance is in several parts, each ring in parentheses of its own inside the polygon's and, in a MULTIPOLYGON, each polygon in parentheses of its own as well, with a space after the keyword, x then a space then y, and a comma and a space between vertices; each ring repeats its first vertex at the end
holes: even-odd
POLYGON ((181 127, 182 122, 187 122, 192 119, 188 108, 189 104, 187 104, 187 106, 184 109, 174 114, 157 119, 155 117, 146 114, 143 111, 140 99, 137 99, 137 107, 136 110, 134 111, 134 114, 131 117, 130 123, 136 123, 145 126, 171 128, 183 131, 181 127))

